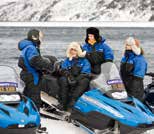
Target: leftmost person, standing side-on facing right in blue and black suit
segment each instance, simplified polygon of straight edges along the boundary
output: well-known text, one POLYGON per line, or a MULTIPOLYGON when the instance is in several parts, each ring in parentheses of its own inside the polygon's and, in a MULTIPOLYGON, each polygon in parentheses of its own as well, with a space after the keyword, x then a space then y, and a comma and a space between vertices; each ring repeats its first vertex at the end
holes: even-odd
POLYGON ((23 94, 31 98, 38 110, 41 106, 41 76, 43 71, 54 72, 56 64, 49 58, 44 58, 40 54, 40 45, 43 33, 37 29, 32 29, 27 34, 27 39, 21 40, 18 48, 21 51, 18 66, 22 69, 20 78, 25 83, 23 94))

